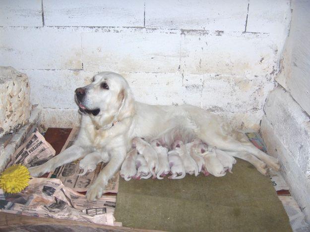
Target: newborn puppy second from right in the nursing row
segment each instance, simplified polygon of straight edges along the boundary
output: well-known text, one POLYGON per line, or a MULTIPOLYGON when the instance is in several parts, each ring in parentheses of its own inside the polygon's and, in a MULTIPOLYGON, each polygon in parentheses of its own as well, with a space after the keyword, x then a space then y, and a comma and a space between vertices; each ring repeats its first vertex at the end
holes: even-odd
POLYGON ((223 177, 226 175, 223 164, 216 157, 215 149, 210 148, 202 154, 206 170, 215 177, 223 177))

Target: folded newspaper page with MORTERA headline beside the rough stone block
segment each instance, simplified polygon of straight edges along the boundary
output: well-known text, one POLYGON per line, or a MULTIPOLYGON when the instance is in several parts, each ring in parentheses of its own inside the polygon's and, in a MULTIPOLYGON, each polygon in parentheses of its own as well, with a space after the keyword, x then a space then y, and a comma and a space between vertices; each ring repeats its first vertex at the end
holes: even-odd
POLYGON ((26 167, 37 166, 51 159, 55 153, 51 144, 36 131, 18 147, 7 166, 13 164, 23 164, 26 167))

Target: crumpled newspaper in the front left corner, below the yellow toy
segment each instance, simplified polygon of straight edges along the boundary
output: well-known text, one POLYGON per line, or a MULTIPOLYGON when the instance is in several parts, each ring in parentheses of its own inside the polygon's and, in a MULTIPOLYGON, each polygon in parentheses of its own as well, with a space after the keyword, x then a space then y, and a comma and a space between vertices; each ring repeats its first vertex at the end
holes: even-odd
POLYGON ((52 217, 113 226, 116 198, 101 197, 88 202, 82 194, 58 179, 35 178, 20 193, 0 189, 0 211, 35 217, 52 217))

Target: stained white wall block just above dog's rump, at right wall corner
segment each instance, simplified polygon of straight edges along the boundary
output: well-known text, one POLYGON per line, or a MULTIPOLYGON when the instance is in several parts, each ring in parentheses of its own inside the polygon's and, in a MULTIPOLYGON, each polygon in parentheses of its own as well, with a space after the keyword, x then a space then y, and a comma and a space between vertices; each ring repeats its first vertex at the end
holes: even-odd
POLYGON ((204 75, 201 106, 216 112, 247 113, 262 110, 272 83, 257 77, 204 75))

